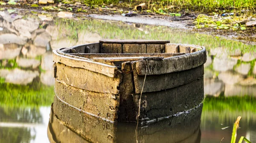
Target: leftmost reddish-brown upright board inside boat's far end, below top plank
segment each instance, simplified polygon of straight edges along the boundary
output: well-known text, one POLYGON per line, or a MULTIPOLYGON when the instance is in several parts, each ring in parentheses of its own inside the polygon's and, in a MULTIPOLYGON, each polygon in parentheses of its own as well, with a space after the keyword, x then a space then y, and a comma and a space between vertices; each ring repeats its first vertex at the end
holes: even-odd
POLYGON ((103 43, 100 53, 122 53, 122 44, 103 43))

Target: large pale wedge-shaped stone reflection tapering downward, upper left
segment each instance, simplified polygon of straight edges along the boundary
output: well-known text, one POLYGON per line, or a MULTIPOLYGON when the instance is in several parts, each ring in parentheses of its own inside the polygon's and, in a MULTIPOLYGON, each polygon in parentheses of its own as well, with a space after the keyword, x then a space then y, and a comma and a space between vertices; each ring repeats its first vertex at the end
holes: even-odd
POLYGON ((35 20, 24 20, 24 19, 18 19, 14 22, 15 28, 20 32, 21 35, 31 38, 30 32, 35 31, 39 27, 39 22, 36 22, 35 20))

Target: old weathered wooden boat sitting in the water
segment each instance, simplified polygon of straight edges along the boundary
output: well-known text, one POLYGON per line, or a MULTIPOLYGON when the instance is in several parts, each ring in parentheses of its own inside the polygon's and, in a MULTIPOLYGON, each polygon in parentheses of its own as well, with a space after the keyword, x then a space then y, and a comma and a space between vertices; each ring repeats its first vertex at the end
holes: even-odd
POLYGON ((158 121, 202 103, 206 59, 202 46, 166 40, 102 39, 54 50, 54 103, 109 122, 158 121))

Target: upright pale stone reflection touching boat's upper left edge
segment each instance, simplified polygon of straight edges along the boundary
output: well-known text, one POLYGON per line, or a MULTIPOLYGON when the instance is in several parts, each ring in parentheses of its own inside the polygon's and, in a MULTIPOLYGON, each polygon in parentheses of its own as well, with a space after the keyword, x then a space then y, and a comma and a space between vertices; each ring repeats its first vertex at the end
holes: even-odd
POLYGON ((47 52, 42 56, 41 68, 43 70, 53 71, 53 63, 52 52, 47 52))

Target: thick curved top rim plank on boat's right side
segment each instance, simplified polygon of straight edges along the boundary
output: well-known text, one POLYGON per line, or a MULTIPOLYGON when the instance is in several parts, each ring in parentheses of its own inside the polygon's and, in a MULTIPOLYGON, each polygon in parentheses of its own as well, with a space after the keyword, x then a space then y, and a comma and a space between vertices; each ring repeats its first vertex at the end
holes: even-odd
POLYGON ((173 73, 182 70, 189 70, 198 67, 206 62, 206 50, 199 50, 194 53, 189 53, 182 56, 174 56, 165 58, 159 61, 145 60, 138 61, 136 64, 137 73, 140 76, 145 75, 146 65, 148 65, 150 72, 147 75, 160 75, 165 73, 173 73))

